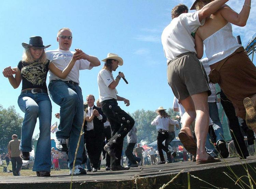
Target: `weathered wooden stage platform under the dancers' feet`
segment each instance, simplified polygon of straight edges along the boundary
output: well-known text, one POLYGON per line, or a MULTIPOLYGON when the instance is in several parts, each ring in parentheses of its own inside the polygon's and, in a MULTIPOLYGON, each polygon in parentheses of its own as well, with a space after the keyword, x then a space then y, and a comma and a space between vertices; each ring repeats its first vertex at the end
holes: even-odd
MULTIPOLYGON (((100 170, 87 175, 73 176, 72 188, 159 188, 168 183, 176 174, 181 174, 166 188, 188 188, 188 177, 190 178, 191 188, 239 188, 234 181, 225 173, 234 177, 247 175, 248 169, 252 178, 256 182, 256 156, 250 156, 245 160, 239 158, 222 159, 218 163, 196 165, 196 162, 184 161, 177 163, 167 163, 156 166, 142 166, 131 168, 128 171, 105 171, 100 170), (188 176, 188 172, 190 176, 188 176), (224 173, 225 172, 225 173, 224 173), (195 178, 196 176, 205 182, 195 178)), ((237 178, 234 179, 235 181, 237 178)), ((249 184, 248 178, 242 177, 244 183, 249 184)), ((37 176, 16 176, 0 177, 1 189, 17 188, 70 188, 71 176, 66 174, 52 175, 51 177, 37 176)), ((241 183, 240 183, 241 185, 241 183)), ((245 186, 245 184, 243 184, 245 186)), ((254 185, 255 187, 255 185, 254 185)), ((248 188, 248 187, 245 187, 248 188)))

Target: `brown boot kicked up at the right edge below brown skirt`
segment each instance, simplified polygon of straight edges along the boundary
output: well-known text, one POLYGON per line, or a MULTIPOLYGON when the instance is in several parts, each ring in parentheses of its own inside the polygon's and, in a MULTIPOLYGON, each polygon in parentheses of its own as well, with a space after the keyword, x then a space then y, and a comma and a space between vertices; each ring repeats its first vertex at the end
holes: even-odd
POLYGON ((245 121, 247 126, 252 130, 256 130, 256 94, 251 98, 247 97, 244 99, 244 107, 246 111, 245 121))

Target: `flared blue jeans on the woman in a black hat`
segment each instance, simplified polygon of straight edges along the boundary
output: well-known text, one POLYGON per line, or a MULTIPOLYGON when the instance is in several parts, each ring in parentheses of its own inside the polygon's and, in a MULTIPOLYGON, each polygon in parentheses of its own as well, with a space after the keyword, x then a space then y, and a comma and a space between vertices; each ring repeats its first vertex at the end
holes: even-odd
POLYGON ((25 113, 19 149, 31 152, 31 140, 39 118, 39 138, 35 151, 33 171, 51 171, 51 120, 52 104, 47 93, 23 93, 19 95, 18 105, 25 113))

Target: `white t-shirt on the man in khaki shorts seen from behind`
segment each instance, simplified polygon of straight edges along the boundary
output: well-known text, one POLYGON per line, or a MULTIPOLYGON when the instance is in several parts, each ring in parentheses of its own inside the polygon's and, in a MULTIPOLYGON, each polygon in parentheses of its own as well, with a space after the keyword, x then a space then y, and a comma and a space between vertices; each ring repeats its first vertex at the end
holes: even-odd
POLYGON ((195 40, 191 33, 195 33, 199 26, 204 25, 205 19, 199 21, 198 11, 183 13, 173 18, 163 30, 161 41, 167 62, 185 52, 195 52, 195 40))

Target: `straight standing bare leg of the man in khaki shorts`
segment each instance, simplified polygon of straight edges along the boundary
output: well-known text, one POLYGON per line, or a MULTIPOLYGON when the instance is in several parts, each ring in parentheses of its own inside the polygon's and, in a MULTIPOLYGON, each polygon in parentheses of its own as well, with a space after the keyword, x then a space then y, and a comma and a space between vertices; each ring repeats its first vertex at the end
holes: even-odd
POLYGON ((208 93, 203 92, 192 95, 196 109, 195 134, 197 138, 197 155, 196 160, 207 160, 209 155, 205 151, 205 141, 209 128, 209 107, 208 93))

